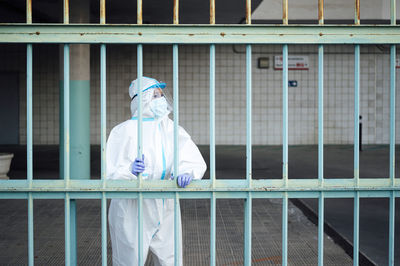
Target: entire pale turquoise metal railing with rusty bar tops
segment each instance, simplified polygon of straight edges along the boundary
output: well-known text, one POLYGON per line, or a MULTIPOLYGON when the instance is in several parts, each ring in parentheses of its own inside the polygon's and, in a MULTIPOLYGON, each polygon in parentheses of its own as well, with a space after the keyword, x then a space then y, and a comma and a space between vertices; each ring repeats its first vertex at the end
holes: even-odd
MULTIPOLYGON (((144 263, 142 253, 142 213, 144 198, 175 199, 175 252, 179 251, 178 212, 180 199, 210 199, 210 265, 215 265, 216 199, 242 198, 245 200, 244 262, 251 264, 251 214, 252 199, 281 198, 282 204, 282 264, 288 263, 288 199, 317 198, 318 209, 318 264, 323 265, 324 199, 354 198, 354 265, 359 254, 359 199, 361 197, 389 198, 389 264, 394 265, 395 198, 400 197, 400 182, 395 178, 395 68, 396 44, 400 43, 400 30, 396 26, 395 0, 391 0, 391 25, 360 25, 360 1, 355 1, 354 26, 324 25, 323 0, 318 1, 318 24, 288 24, 288 0, 283 0, 282 25, 251 25, 251 1, 246 0, 246 25, 215 25, 215 0, 210 0, 210 25, 178 25, 179 1, 174 0, 173 25, 143 25, 142 1, 137 1, 137 24, 106 24, 105 0, 100 0, 100 23, 97 25, 69 24, 69 5, 64 0, 64 25, 32 24, 31 0, 27 0, 26 24, 0 24, 0 43, 27 44, 27 179, 0 180, 1 199, 28 200, 28 254, 29 265, 34 264, 33 253, 33 200, 65 200, 65 264, 71 261, 70 250, 70 200, 101 200, 102 264, 107 265, 107 199, 137 198, 139 206, 139 265, 144 263), (64 44, 64 180, 33 180, 32 165, 32 44, 64 44), (69 173, 69 45, 74 43, 100 44, 101 81, 101 180, 71 180, 69 173), (210 179, 195 180, 185 189, 170 180, 107 180, 106 181, 106 44, 126 43, 137 45, 137 77, 143 76, 143 44, 173 44, 173 94, 174 94, 174 169, 178 172, 179 84, 178 55, 181 44, 210 45, 210 179), (215 168, 215 45, 246 44, 246 178, 221 180, 215 168), (279 180, 252 179, 252 44, 283 45, 283 158, 279 180), (318 44, 318 179, 294 180, 288 177, 288 54, 289 44, 318 44), (353 179, 324 179, 324 44, 354 44, 354 176, 353 179), (359 101, 360 101, 360 44, 390 44, 390 176, 383 179, 359 178, 359 101)), ((139 85, 140 87, 140 85, 139 85)), ((142 93, 139 90, 138 155, 142 154, 142 93)), ((178 264, 178 254, 175 265, 178 264)))

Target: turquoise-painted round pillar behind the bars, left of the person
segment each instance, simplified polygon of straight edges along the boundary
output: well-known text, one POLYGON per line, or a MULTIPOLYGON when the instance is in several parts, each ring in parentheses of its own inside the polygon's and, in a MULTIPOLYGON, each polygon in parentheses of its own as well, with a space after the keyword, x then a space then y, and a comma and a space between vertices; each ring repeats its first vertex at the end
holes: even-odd
MULTIPOLYGON (((90 1, 70 0, 70 23, 90 23, 90 1)), ((64 178, 64 50, 60 46, 60 178, 64 178)), ((90 179, 90 45, 70 45, 70 178, 90 179)), ((76 201, 71 206, 71 265, 77 265, 76 201)))

